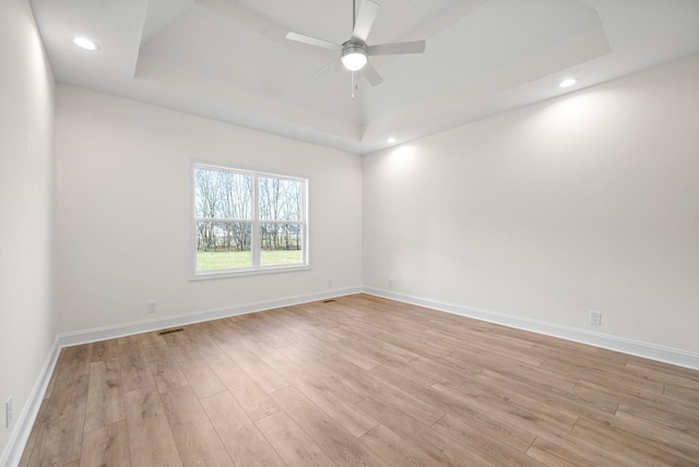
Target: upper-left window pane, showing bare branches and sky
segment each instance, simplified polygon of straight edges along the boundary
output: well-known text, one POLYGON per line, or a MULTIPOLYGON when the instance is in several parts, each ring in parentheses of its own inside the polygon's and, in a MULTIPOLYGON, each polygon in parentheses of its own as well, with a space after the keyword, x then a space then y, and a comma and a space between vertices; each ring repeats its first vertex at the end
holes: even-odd
POLYGON ((197 217, 250 219, 252 177, 223 170, 194 170, 194 209, 197 217))

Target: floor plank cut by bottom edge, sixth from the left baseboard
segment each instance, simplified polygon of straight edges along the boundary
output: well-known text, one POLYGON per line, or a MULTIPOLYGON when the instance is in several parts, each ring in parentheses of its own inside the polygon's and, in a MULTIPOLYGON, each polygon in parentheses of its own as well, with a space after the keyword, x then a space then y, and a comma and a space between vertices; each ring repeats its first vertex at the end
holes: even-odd
POLYGON ((288 467, 331 467, 336 464, 283 411, 256 422, 288 467))

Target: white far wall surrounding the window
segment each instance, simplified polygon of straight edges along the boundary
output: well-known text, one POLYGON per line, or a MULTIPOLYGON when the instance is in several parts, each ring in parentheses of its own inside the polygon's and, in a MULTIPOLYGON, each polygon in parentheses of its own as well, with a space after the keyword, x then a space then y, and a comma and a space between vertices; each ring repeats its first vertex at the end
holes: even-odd
POLYGON ((59 333, 362 285, 359 156, 63 85, 56 151, 59 333), (311 270, 190 282, 191 158, 309 177, 311 270))

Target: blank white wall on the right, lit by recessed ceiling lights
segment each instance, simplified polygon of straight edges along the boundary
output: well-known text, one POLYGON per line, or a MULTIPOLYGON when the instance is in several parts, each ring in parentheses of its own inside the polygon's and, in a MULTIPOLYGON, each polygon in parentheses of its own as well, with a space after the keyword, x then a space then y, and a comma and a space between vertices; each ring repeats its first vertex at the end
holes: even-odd
POLYGON ((365 157, 363 267, 384 292, 699 352, 699 57, 365 157))

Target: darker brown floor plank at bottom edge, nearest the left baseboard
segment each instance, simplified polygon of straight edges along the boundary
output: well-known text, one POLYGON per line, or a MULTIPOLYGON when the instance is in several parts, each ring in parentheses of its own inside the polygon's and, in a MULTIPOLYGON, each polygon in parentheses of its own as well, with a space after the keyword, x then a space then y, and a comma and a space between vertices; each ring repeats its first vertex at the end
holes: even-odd
POLYGON ((62 466, 80 460, 90 375, 56 382, 28 465, 62 466))

